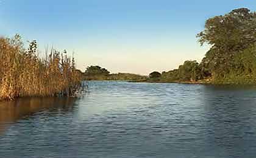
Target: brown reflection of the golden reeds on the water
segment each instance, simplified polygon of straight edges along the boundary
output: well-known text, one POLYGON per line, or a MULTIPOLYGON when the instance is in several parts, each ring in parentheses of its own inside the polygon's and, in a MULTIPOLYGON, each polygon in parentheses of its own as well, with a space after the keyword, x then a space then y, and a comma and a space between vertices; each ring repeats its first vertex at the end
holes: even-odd
POLYGON ((19 98, 15 101, 2 101, 0 102, 0 132, 8 124, 38 111, 73 111, 75 101, 76 98, 72 97, 19 98))

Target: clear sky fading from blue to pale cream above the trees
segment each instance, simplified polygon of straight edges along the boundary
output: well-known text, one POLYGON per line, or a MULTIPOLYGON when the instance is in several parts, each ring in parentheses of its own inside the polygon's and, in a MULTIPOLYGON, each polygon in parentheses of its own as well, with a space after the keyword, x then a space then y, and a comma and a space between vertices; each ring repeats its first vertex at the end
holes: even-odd
MULTIPOLYGON (((196 34, 205 20, 247 7, 252 0, 0 0, 0 35, 74 52, 77 68, 99 65, 148 75, 185 60, 200 62, 209 46, 196 34)), ((27 43, 26 43, 27 44, 27 43)))

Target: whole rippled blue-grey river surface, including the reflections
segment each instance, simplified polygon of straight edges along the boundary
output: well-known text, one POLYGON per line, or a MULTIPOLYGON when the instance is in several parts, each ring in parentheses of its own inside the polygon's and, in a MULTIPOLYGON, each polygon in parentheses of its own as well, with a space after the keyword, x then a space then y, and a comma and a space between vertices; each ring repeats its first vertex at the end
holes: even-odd
POLYGON ((256 157, 256 89, 90 82, 0 103, 0 157, 256 157))

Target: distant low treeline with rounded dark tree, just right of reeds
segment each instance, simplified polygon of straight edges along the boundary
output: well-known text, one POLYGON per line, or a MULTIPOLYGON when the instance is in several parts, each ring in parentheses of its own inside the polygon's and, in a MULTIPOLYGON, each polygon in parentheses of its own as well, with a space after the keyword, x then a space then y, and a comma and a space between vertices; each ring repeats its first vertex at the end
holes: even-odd
POLYGON ((125 80, 125 81, 145 81, 146 76, 130 74, 130 73, 118 73, 110 74, 110 72, 100 66, 89 66, 84 72, 85 80, 125 80))

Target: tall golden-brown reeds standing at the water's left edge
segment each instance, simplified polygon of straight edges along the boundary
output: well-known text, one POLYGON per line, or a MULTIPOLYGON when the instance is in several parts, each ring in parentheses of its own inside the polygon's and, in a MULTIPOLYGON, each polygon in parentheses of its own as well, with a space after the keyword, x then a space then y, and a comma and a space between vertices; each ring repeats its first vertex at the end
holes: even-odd
POLYGON ((82 74, 76 70, 74 58, 66 51, 46 51, 41 58, 37 41, 24 48, 20 35, 0 38, 0 99, 25 96, 74 95, 80 89, 82 74))

